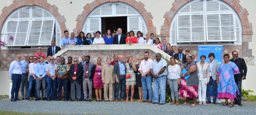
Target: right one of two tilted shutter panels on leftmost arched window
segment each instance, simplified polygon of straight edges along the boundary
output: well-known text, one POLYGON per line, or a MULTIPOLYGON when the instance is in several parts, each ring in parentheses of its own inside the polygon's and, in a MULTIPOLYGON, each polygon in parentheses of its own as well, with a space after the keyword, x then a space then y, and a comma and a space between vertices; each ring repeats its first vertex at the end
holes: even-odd
POLYGON ((55 19, 32 20, 27 45, 51 45, 54 27, 55 19))

